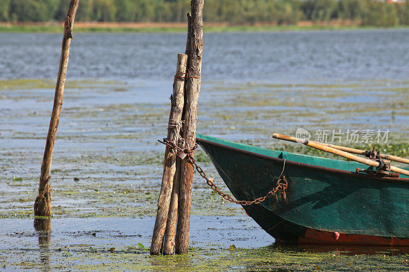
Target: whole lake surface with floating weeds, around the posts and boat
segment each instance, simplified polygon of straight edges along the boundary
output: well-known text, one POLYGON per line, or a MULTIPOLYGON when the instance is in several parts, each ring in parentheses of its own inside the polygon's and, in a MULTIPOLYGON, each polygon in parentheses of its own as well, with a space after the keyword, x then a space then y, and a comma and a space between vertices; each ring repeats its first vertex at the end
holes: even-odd
MULTIPOLYGON (((405 249, 276 245, 197 175, 193 255, 151 259, 138 248, 150 243, 164 150, 156 140, 166 133, 184 34, 74 34, 52 165, 53 227, 35 229, 61 38, 0 33, 0 267, 407 270, 405 249), (240 249, 229 251, 233 243, 240 249)), ((408 44, 409 30, 205 33, 197 131, 272 148, 282 144, 272 132, 298 128, 390 130, 388 144, 408 142, 408 44)))

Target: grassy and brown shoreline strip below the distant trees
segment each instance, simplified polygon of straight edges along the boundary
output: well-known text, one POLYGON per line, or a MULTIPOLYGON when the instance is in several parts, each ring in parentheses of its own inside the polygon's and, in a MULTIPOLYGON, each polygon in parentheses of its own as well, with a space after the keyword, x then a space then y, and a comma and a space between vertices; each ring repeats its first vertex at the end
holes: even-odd
MULTIPOLYGON (((184 33, 185 22, 75 22, 77 33, 184 33)), ((406 29, 396 26, 392 29, 406 29)), ((274 22, 230 24, 229 22, 205 22, 205 32, 262 32, 262 31, 308 31, 308 30, 350 30, 390 29, 375 26, 361 26, 359 21, 300 21, 297 24, 278 25, 274 22)), ((0 22, 0 33, 62 33, 63 22, 0 22)))

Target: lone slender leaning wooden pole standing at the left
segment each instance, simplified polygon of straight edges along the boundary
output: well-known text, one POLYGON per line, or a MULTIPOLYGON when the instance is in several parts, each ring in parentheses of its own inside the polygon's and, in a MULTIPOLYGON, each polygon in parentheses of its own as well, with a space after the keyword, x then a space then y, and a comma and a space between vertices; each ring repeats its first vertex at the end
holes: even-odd
POLYGON ((40 184, 38 187, 38 196, 34 203, 34 214, 40 216, 50 216, 51 214, 51 161, 53 159, 55 137, 57 134, 58 122, 60 120, 62 95, 64 93, 65 76, 68 66, 68 57, 70 54, 70 44, 73 38, 73 24, 78 8, 78 2, 79 0, 71 0, 67 17, 64 23, 64 36, 62 38, 60 67, 58 70, 57 84, 55 86, 54 106, 47 135, 46 149, 44 150, 44 157, 41 164, 41 176, 40 184))

